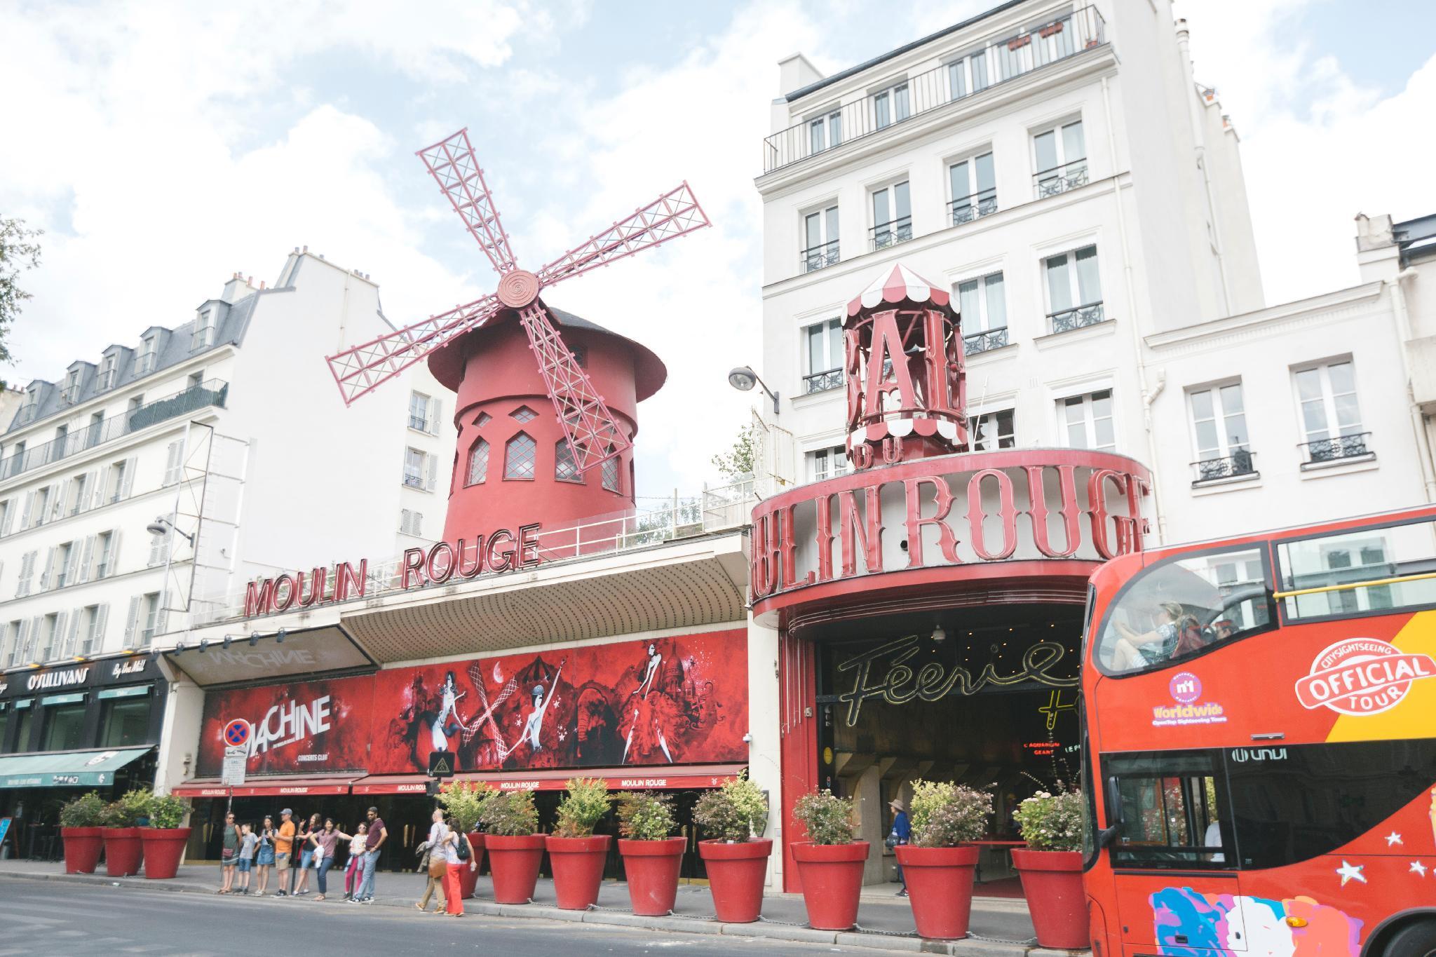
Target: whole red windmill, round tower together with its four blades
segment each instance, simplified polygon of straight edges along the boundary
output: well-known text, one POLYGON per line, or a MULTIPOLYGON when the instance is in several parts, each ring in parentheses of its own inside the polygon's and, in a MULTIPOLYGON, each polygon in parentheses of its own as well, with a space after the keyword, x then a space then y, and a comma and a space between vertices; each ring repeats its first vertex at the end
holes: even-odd
POLYGON ((445 541, 471 538, 497 521, 553 524, 629 508, 638 403, 668 373, 646 347, 550 308, 540 293, 711 225, 708 217, 685 182, 530 273, 518 268, 468 131, 418 155, 498 273, 498 286, 329 356, 345 405, 421 359, 458 393, 445 541))

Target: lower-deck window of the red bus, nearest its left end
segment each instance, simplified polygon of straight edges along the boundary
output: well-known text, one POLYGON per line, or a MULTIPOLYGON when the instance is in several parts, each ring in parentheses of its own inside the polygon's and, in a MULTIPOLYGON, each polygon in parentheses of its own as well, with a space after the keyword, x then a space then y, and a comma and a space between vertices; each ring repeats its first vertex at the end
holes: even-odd
MULTIPOLYGON (((1215 752, 1116 755, 1103 760, 1120 832, 1113 867, 1228 868, 1215 752)), ((1232 861, 1232 864, 1228 864, 1232 861)))

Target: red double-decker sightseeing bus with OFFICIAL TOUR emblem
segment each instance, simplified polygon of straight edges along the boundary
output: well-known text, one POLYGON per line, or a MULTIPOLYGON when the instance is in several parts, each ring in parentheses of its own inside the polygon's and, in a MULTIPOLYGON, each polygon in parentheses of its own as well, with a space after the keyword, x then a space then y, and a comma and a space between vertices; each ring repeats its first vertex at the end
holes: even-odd
POLYGON ((1096 957, 1436 954, 1436 508, 1126 555, 1087 616, 1096 957))

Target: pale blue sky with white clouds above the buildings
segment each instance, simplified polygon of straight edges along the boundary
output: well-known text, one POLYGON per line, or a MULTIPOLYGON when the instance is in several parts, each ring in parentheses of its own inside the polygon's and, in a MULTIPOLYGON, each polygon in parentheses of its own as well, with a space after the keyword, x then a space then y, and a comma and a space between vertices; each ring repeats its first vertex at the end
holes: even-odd
MULTIPOLYGON (((695 491, 751 402, 724 374, 760 359, 752 176, 777 60, 801 50, 831 72, 988 6, 10 0, 0 215, 46 235, 0 376, 56 379, 187 321, 234 270, 273 283, 302 244, 370 273, 393 321, 488 291, 487 261, 414 156, 468 126, 521 264, 681 179, 715 221, 550 296, 668 363, 642 409, 639 491, 695 491)), ((1436 211, 1436 4, 1176 13, 1242 138, 1269 303, 1356 281, 1358 211, 1436 211)))

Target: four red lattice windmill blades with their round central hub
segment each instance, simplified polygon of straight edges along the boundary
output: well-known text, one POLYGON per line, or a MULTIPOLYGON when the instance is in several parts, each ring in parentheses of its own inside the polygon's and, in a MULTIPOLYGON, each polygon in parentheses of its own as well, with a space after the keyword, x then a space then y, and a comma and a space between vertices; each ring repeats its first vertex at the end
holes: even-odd
POLYGON ((564 346, 559 323, 538 294, 561 280, 712 225, 688 184, 659 195, 537 273, 530 273, 518 268, 514 261, 494 197, 488 192, 484 171, 468 142, 468 129, 418 151, 418 156, 454 204, 454 211, 464 220, 464 228, 478 240, 484 255, 493 263, 498 273, 498 288, 472 303, 455 306, 447 313, 329 356, 329 367, 345 405, 464 333, 482 327, 504 310, 514 310, 528 336, 528 346, 573 449, 577 471, 584 472, 628 449, 629 438, 615 422, 580 362, 564 346))

